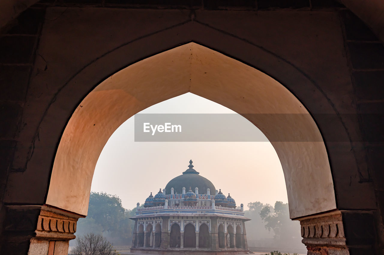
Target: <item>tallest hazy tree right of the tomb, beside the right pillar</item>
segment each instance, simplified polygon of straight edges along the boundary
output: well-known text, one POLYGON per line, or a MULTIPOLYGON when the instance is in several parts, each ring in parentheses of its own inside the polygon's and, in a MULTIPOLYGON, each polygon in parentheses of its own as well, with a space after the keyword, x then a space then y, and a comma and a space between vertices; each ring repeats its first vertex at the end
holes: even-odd
POLYGON ((260 216, 266 222, 265 228, 272 229, 274 238, 283 244, 296 244, 302 246, 300 236, 300 223, 292 221, 289 217, 288 203, 276 201, 273 211, 270 206, 265 206, 260 211, 260 216))

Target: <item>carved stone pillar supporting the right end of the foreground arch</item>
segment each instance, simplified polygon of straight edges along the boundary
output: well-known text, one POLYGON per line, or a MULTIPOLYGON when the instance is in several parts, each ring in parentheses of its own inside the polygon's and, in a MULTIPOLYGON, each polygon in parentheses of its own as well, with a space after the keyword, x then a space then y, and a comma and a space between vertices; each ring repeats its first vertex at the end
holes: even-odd
POLYGON ((371 211, 336 211, 300 220, 308 255, 376 254, 371 211))

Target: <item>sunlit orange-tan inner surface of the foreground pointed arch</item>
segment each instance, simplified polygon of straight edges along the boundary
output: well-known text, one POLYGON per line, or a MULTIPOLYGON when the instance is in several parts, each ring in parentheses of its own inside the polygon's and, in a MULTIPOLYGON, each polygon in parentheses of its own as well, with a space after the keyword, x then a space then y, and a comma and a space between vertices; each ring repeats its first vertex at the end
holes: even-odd
POLYGON ((132 64, 84 98, 61 137, 46 204, 86 215, 94 167, 111 134, 135 113, 187 92, 242 114, 271 141, 291 218, 336 209, 323 138, 300 101, 268 75, 195 43, 132 64))

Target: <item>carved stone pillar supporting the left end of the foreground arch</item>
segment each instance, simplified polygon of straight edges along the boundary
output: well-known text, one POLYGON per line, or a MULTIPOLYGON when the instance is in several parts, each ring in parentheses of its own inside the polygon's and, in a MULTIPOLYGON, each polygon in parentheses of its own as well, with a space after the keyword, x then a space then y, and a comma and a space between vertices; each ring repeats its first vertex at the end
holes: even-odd
POLYGON ((2 254, 67 255, 79 217, 47 206, 7 206, 2 254))

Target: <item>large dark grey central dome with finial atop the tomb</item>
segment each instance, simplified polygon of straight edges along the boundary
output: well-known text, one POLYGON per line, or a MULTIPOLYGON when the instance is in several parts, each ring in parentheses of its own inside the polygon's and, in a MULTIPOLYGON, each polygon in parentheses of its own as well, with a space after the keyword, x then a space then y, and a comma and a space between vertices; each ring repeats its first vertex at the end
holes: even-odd
POLYGON ((215 186, 210 180, 199 175, 199 172, 196 172, 196 170, 193 169, 192 163, 192 160, 190 160, 188 166, 189 169, 183 172, 182 175, 169 181, 166 186, 166 194, 170 194, 171 188, 174 188, 175 194, 181 194, 183 187, 185 187, 186 190, 189 189, 189 187, 191 187, 192 190, 195 190, 197 187, 199 188, 199 194, 207 193, 207 188, 209 188, 211 195, 215 195, 215 186))

